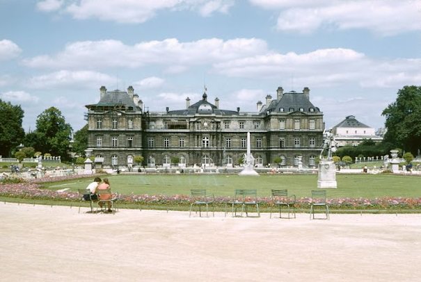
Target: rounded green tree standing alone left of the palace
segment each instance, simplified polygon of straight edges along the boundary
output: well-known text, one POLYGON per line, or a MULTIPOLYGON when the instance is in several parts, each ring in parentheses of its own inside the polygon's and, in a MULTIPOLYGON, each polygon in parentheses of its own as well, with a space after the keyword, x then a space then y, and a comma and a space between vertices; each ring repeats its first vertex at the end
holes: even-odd
POLYGON ((38 115, 36 132, 40 147, 35 147, 35 149, 48 152, 52 156, 61 156, 63 159, 69 158, 67 149, 70 144, 72 126, 65 122, 60 110, 51 107, 38 115))

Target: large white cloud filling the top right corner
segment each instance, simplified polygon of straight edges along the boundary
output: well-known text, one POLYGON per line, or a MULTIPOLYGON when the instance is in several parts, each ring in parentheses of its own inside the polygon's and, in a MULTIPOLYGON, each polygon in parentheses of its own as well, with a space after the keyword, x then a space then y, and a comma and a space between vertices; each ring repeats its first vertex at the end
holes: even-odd
POLYGON ((381 35, 420 31, 418 1, 249 0, 255 6, 278 9, 280 31, 311 33, 319 28, 364 28, 381 35))

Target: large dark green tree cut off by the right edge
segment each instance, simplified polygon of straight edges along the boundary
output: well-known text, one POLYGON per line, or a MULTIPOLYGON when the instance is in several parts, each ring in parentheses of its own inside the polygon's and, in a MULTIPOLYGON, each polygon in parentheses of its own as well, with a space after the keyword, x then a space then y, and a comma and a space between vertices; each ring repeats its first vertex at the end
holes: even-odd
POLYGON ((421 86, 404 86, 383 110, 388 131, 384 141, 416 154, 421 147, 421 86))

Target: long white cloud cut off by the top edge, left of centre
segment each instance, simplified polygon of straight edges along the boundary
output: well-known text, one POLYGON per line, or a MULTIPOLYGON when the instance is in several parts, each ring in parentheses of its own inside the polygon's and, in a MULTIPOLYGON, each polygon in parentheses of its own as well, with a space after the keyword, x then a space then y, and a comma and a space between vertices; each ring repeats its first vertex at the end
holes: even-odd
POLYGON ((141 24, 163 10, 194 10, 204 17, 213 13, 228 13, 234 0, 45 0, 37 3, 38 10, 59 10, 75 19, 100 19, 123 24, 141 24))

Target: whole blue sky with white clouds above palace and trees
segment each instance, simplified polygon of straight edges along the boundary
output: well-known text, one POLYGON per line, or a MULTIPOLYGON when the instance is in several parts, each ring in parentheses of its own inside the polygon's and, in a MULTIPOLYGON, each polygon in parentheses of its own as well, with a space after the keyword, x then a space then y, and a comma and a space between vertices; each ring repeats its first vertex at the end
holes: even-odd
POLYGON ((0 0, 0 99, 26 132, 51 106, 78 131, 102 85, 132 85, 151 112, 205 86, 244 112, 308 87, 326 128, 381 128, 397 91, 421 85, 421 1, 0 0))

